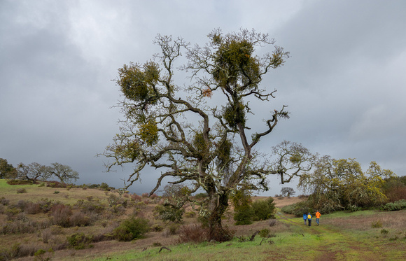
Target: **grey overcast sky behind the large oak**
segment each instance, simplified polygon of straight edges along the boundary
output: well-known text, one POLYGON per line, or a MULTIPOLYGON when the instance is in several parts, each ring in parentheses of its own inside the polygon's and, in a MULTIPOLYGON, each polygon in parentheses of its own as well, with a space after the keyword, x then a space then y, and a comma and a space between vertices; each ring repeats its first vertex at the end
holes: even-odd
MULTIPOLYGON (((78 171, 78 184, 122 187, 131 167, 105 173, 95 157, 118 133, 118 68, 151 59, 158 33, 203 45, 213 29, 246 28, 290 52, 263 84, 277 90, 267 111, 284 104, 291 117, 261 150, 295 141, 404 176, 405 13, 403 0, 0 0, 0 157, 59 162, 78 171)), ((156 178, 132 191, 149 192, 156 178)), ((281 186, 271 182, 273 196, 281 186)))

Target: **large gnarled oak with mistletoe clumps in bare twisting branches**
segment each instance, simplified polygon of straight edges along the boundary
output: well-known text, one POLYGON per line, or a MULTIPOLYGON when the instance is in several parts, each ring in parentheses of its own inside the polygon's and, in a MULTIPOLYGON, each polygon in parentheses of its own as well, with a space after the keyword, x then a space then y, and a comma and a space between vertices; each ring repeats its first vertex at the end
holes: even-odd
POLYGON ((254 150, 279 120, 288 118, 286 106, 264 113, 276 90, 261 85, 265 74, 281 66, 288 52, 267 34, 254 30, 225 35, 214 30, 208 36, 209 43, 200 47, 182 38, 158 35, 155 43, 160 54, 145 64, 125 64, 118 70, 116 83, 124 95, 118 106, 125 119, 104 155, 111 158, 108 170, 134 163, 127 188, 149 165, 162 171, 151 195, 166 177, 172 177, 169 183, 191 184, 190 194, 205 190, 208 197, 201 202, 201 215, 209 220, 209 237, 223 241, 227 235, 221 216, 230 195, 239 190, 267 190, 270 174, 288 182, 310 167, 306 163, 311 157, 301 146, 288 142, 274 148, 286 150, 276 153, 279 159, 274 162, 254 150), (257 50, 269 46, 272 52, 257 50), (183 51, 188 62, 179 67, 175 62, 183 51), (176 68, 190 73, 190 84, 174 83, 176 68), (246 116, 254 113, 250 105, 254 102, 263 103, 260 113, 266 117, 258 129, 252 129, 246 116))

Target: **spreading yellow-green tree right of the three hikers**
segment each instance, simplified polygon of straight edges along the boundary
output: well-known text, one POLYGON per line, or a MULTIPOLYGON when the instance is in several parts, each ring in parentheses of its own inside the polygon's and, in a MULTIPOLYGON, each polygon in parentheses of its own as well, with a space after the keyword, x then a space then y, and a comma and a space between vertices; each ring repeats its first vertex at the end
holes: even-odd
POLYGON ((314 164, 314 171, 300 177, 299 186, 311 192, 313 207, 323 212, 377 206, 386 202, 384 178, 395 176, 371 162, 364 173, 354 159, 334 160, 323 156, 314 164))

